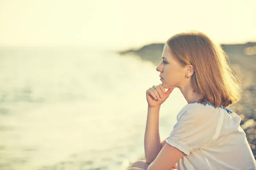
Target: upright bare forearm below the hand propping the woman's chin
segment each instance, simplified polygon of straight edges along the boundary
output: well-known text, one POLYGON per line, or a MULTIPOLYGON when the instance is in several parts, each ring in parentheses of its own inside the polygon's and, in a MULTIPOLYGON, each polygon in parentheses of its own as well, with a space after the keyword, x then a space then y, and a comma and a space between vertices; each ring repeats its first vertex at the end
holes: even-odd
POLYGON ((148 116, 144 136, 146 162, 151 164, 161 150, 159 134, 159 108, 148 107, 148 116))

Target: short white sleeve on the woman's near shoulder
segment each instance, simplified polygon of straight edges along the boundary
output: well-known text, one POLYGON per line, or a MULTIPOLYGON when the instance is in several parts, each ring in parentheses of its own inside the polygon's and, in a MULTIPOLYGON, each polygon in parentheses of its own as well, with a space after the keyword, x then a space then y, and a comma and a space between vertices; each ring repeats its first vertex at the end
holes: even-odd
POLYGON ((177 116, 177 123, 166 143, 189 155, 217 139, 222 125, 220 113, 190 107, 181 110, 178 115, 180 116, 177 116))

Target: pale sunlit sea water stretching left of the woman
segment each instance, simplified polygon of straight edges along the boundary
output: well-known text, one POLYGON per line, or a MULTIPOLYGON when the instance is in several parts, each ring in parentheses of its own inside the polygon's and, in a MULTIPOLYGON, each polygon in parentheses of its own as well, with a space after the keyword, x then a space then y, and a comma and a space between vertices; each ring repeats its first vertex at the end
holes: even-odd
MULTIPOLYGON (((144 154, 159 75, 100 49, 0 48, 0 170, 125 170, 144 154)), ((163 103, 161 140, 186 104, 177 88, 163 103)))

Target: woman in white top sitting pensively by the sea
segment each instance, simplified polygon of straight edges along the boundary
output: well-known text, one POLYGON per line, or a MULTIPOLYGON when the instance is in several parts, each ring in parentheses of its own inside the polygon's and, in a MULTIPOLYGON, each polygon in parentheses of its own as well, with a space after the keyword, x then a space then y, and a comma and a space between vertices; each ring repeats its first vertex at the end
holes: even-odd
POLYGON ((242 91, 221 45, 191 31, 169 38, 162 55, 157 67, 162 84, 146 91, 145 160, 129 170, 256 170, 241 118, 227 108, 241 99, 242 91), (174 88, 188 104, 177 114, 170 136, 160 142, 160 106, 174 88))

